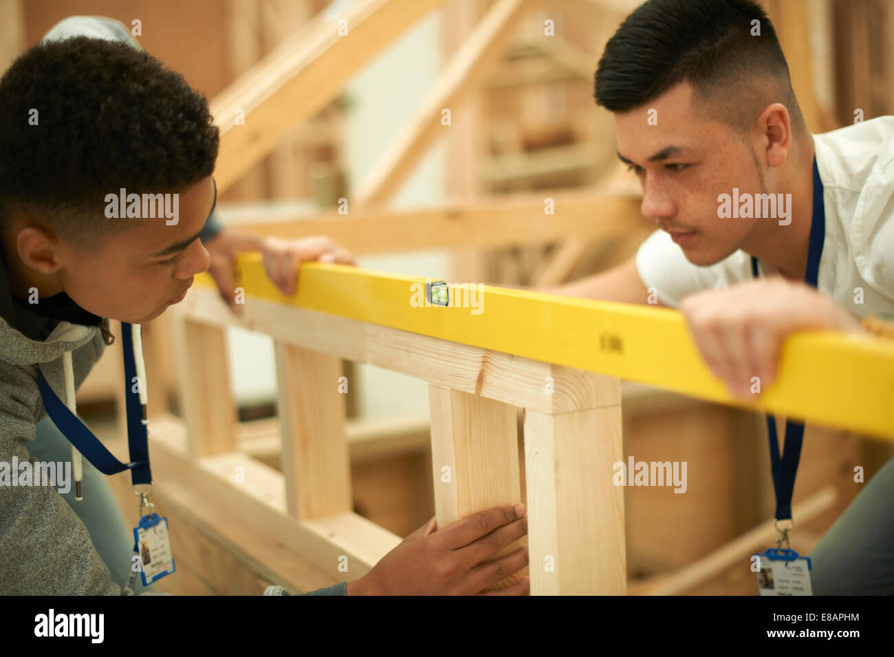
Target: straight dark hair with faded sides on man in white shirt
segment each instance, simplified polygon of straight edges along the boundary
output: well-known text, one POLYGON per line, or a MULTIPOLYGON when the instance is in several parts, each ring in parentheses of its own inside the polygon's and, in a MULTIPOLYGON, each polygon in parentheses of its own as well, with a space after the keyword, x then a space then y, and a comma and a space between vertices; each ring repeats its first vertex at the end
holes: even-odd
POLYGON ((707 114, 740 134, 772 102, 786 105, 793 130, 804 127, 776 30, 752 0, 639 5, 605 46, 595 73, 596 104, 628 112, 684 81, 707 114), (752 36, 753 21, 760 36, 752 36))

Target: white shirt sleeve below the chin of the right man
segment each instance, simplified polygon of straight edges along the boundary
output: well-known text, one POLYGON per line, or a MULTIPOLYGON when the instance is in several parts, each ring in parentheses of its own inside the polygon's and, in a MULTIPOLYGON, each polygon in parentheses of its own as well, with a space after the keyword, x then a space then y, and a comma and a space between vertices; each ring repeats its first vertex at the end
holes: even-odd
MULTIPOLYGON (((665 306, 678 307, 689 294, 727 287, 751 278, 751 258, 743 251, 714 265, 693 265, 664 231, 649 235, 637 250, 637 272, 646 289, 654 288, 665 306)), ((651 292, 651 290, 650 290, 651 292)))

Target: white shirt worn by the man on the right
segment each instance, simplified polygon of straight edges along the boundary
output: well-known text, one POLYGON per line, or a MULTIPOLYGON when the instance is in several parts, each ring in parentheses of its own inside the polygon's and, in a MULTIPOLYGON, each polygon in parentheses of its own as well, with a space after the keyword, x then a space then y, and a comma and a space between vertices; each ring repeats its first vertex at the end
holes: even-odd
MULTIPOLYGON (((814 135, 814 146, 826 213, 817 289, 857 317, 894 319, 894 116, 814 135)), ((778 272, 758 266, 762 276, 778 272)), ((692 292, 752 278, 741 249, 714 265, 693 265, 664 231, 640 245, 637 271, 671 307, 692 292)))

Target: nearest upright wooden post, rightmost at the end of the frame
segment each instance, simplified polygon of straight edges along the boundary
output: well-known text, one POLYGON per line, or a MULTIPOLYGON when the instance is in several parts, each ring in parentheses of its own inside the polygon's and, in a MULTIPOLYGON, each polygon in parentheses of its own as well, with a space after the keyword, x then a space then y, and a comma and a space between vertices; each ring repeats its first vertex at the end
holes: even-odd
MULTIPOLYGON (((531 594, 626 594, 620 380, 559 413, 526 409, 525 476, 531 594)), ((557 388, 558 392, 558 388, 557 388)))

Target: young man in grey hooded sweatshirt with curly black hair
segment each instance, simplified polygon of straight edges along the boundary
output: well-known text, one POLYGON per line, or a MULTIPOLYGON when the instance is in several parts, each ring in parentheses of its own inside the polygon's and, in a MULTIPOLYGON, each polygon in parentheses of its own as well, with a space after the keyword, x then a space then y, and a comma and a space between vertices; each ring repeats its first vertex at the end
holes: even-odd
MULTIPOLYGON (((353 263, 325 238, 262 240, 216 223, 218 140, 206 99, 117 21, 63 21, 0 79, 0 594, 122 593, 105 560, 129 565, 133 543, 107 489, 89 532, 75 513, 85 502, 3 478, 46 449, 35 442, 63 442, 48 420, 38 432, 41 385, 73 400, 114 339, 106 317, 145 324, 207 270, 235 309, 240 251, 261 251, 286 294, 302 261, 353 263), (90 534, 104 525, 117 536, 100 554, 90 534)), ((485 563, 527 533, 523 507, 435 529, 432 518, 367 576, 315 594, 475 594, 527 565, 527 548, 485 563)), ((523 577, 501 594, 527 587, 523 577)))

